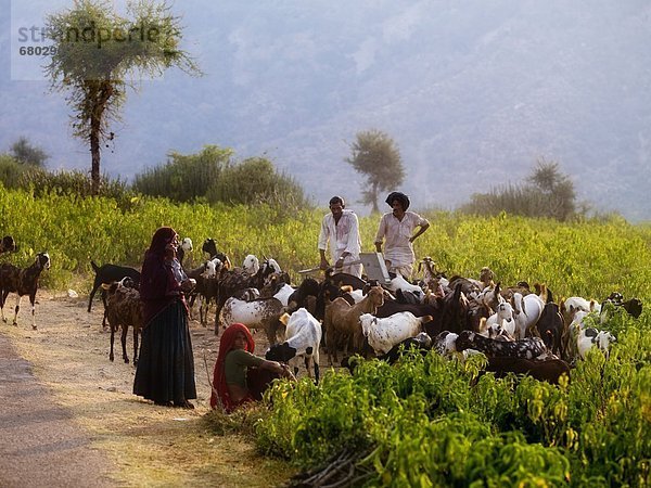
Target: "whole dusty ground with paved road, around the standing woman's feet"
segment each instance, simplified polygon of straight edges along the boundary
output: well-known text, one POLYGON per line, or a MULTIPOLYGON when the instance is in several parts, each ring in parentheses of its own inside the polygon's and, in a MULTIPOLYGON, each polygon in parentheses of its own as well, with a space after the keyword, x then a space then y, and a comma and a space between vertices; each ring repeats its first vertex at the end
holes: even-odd
MULTIPOLYGON (((0 487, 268 487, 292 475, 246 439, 206 431, 212 328, 190 324, 196 409, 156 407, 132 394, 135 368, 123 362, 118 337, 108 360, 101 301, 88 313, 87 296, 39 290, 37 299, 38 330, 25 299, 17 328, 0 321, 0 487)), ((255 336, 258 354, 264 336, 255 336)))

